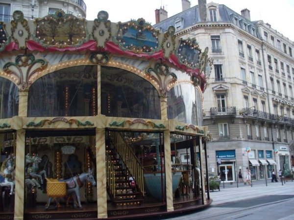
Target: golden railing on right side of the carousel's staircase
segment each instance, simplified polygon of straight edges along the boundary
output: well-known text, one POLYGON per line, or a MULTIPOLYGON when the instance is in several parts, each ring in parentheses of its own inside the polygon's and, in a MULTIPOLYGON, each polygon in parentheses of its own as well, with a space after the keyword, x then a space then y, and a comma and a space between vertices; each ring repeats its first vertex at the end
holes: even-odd
POLYGON ((144 167, 124 140, 120 132, 110 132, 114 147, 123 159, 124 165, 129 172, 129 176, 133 176, 135 182, 144 196, 144 167))

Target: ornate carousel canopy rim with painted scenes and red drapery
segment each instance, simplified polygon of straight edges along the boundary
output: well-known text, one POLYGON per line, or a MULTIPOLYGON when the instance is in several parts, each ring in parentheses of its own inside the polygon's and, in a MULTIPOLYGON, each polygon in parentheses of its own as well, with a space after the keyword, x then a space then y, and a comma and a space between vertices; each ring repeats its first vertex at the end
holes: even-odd
POLYGON ((91 62, 97 64, 106 63, 105 57, 111 55, 160 60, 164 65, 186 72, 202 91, 212 66, 208 47, 202 51, 195 38, 176 37, 173 26, 160 33, 143 18, 112 23, 106 11, 100 11, 94 21, 65 14, 62 10, 27 21, 23 12, 15 11, 10 23, 0 22, 0 32, 0 52, 90 51, 91 62))

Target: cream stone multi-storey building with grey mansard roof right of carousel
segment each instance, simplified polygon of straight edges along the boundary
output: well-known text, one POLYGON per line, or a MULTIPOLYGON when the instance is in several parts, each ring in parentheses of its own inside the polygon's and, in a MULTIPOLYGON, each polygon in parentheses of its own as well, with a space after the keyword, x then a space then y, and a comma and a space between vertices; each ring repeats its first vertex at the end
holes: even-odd
MULTIPOLYGON (((252 179, 271 177, 271 170, 290 175, 294 164, 294 43, 269 23, 251 21, 229 5, 198 0, 168 18, 155 10, 161 31, 170 25, 183 39, 210 45, 213 72, 204 92, 203 125, 213 140, 207 143, 209 173, 236 181, 250 167, 252 179), (160 16, 159 16, 160 15, 160 16)), ((179 156, 179 155, 178 155, 179 156)))

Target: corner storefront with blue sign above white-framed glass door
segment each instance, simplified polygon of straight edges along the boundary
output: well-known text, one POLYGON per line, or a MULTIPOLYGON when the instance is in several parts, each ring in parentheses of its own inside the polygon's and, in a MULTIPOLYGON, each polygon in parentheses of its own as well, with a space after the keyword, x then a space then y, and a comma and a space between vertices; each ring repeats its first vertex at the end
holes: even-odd
POLYGON ((221 181, 236 181, 236 152, 235 150, 216 151, 218 175, 221 181))

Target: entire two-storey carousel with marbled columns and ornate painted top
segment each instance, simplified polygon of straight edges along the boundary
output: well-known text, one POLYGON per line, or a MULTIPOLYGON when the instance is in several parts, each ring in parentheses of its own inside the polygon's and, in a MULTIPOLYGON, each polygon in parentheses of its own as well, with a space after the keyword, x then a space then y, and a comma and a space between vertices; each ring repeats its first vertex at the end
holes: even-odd
POLYGON ((0 219, 129 219, 211 204, 207 47, 105 11, 94 21, 15 11, 0 32, 0 219))

